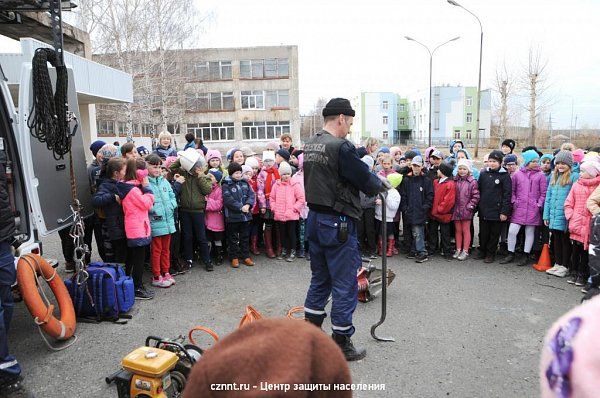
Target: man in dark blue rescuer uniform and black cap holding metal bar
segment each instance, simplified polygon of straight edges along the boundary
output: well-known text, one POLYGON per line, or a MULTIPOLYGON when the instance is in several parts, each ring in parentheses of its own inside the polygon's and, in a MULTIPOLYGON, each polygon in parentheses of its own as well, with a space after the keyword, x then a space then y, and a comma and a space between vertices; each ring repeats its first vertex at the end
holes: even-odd
POLYGON ((332 99, 323 109, 323 130, 304 146, 304 189, 310 208, 306 236, 312 271, 305 318, 321 327, 331 294, 332 337, 348 361, 366 356, 366 350, 355 348, 350 339, 358 301, 356 273, 361 265, 356 237, 356 221, 362 215, 359 191, 373 196, 389 187, 369 172, 346 139, 354 114, 350 101, 332 99))

